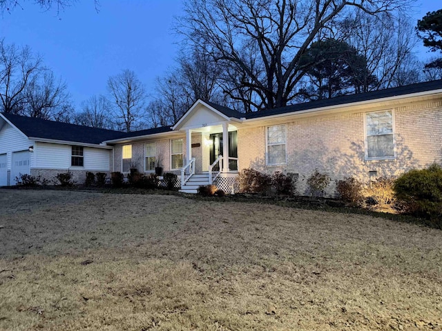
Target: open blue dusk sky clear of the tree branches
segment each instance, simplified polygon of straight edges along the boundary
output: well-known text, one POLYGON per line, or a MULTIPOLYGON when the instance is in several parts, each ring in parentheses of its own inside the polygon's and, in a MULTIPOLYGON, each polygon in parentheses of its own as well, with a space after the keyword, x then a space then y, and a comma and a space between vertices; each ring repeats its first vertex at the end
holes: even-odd
MULTIPOLYGON (((66 81, 77 109, 91 95, 105 94, 108 77, 123 69, 135 71, 153 93, 155 77, 174 65, 180 37, 173 23, 182 0, 101 0, 99 12, 93 0, 81 0, 58 16, 32 2, 0 17, 0 38, 41 54, 66 81)), ((441 8, 439 1, 416 1, 413 17, 441 8)))

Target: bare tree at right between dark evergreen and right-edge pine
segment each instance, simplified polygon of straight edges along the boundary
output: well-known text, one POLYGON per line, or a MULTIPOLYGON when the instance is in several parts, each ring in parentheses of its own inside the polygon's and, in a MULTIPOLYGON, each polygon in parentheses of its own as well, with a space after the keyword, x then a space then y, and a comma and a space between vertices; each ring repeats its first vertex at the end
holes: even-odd
POLYGON ((355 77, 356 93, 418 82, 422 70, 413 54, 418 42, 410 19, 384 12, 377 16, 356 10, 341 24, 343 34, 367 60, 367 72, 355 77), (376 83, 369 77, 376 77, 376 83))

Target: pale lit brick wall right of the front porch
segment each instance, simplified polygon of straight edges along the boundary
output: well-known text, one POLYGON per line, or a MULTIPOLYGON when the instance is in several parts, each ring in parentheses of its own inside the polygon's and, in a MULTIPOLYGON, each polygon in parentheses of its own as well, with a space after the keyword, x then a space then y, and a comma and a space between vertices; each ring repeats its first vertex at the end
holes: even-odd
MULTIPOLYGON (((238 130, 239 168, 256 168, 269 174, 280 170, 299 174, 298 194, 307 194, 306 180, 318 168, 332 182, 327 195, 335 194, 335 181, 354 176, 362 181, 397 176, 412 168, 442 161, 442 101, 410 103, 394 110, 396 159, 366 160, 364 116, 361 110, 345 114, 310 116, 287 122, 287 163, 266 165, 265 126, 238 130)), ((378 109, 382 110, 382 109, 378 109)))

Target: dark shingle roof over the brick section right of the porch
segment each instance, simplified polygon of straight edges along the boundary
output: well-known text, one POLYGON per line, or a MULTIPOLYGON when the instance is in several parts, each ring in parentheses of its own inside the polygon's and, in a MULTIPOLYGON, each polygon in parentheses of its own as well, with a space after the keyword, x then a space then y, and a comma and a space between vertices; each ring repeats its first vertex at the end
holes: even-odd
POLYGON ((385 90, 377 90, 377 91, 360 93, 360 94, 345 95, 343 97, 335 97, 332 99, 323 99, 318 101, 310 101, 306 103, 297 103, 291 106, 262 110, 260 112, 249 112, 247 114, 241 114, 241 117, 245 117, 246 119, 256 119, 258 117, 287 114, 290 112, 299 112, 300 110, 309 110, 309 109, 323 108, 328 106, 345 105, 347 103, 383 99, 388 97, 395 97, 398 95, 419 93, 419 92, 438 90, 438 89, 442 89, 442 79, 438 81, 427 81, 425 83, 416 83, 407 86, 400 86, 398 88, 387 88, 385 90))

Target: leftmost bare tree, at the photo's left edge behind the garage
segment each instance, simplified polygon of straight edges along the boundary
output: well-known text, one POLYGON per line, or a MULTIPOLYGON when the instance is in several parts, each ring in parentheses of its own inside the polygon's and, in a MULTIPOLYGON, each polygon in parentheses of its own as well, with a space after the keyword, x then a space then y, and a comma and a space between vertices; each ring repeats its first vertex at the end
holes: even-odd
POLYGON ((40 74, 41 57, 28 46, 19 47, 0 41, 1 111, 22 113, 26 103, 26 87, 40 74))

